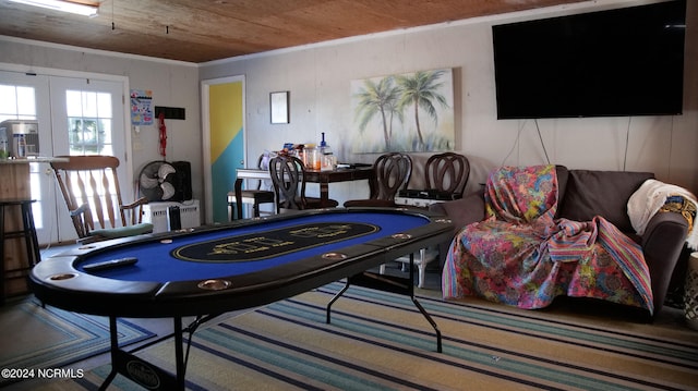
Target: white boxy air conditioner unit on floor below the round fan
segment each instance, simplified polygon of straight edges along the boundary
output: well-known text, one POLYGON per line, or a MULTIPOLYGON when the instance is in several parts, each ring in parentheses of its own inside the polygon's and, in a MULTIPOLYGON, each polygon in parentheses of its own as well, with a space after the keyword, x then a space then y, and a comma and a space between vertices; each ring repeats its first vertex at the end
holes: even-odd
POLYGON ((153 224, 153 233, 201 225, 198 199, 184 203, 148 203, 143 206, 143 222, 153 224))

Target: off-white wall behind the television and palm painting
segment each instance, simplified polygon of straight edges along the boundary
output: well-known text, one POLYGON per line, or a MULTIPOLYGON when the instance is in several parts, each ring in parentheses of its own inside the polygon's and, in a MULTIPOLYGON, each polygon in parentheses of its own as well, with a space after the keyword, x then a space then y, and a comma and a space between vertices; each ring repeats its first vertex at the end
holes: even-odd
MULTIPOLYGON (((245 76, 249 161, 261 150, 278 149, 285 142, 318 142, 321 132, 326 132, 340 160, 373 161, 375 155, 353 156, 346 147, 346 135, 356 126, 350 110, 350 82, 450 68, 454 70, 456 149, 466 154, 474 166, 469 186, 483 182, 488 170, 495 166, 545 163, 546 152, 550 162, 571 169, 651 171, 660 180, 695 193, 698 190, 698 33, 694 26, 698 26, 698 2, 689 1, 687 10, 683 115, 540 120, 538 126, 545 149, 533 121, 496 120, 493 24, 607 9, 617 3, 633 5, 647 1, 586 2, 279 50, 201 64, 200 77, 245 76), (269 93, 276 90, 290 90, 290 124, 269 124, 269 93)), ((361 194, 358 186, 334 186, 336 191, 330 187, 330 196, 339 200, 361 194)))

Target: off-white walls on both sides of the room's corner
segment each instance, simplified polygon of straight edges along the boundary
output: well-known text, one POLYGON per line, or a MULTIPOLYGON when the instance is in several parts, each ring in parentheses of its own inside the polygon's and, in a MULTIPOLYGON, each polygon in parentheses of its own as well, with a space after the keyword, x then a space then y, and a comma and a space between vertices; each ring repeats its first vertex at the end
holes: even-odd
MULTIPOLYGON (((125 75, 130 88, 152 89, 157 106, 183 107, 186 120, 167 121, 168 160, 192 162, 194 196, 203 196, 200 81, 244 75, 248 161, 285 142, 320 140, 321 132, 344 161, 352 156, 346 135, 353 129, 352 80, 452 68, 457 150, 473 172, 469 187, 501 164, 552 163, 569 168, 652 171, 660 180, 698 193, 698 2, 688 1, 684 114, 678 117, 541 120, 543 150, 532 121, 497 121, 492 62, 492 24, 647 3, 597 0, 525 13, 474 19, 408 30, 356 37, 257 56, 191 64, 0 37, 0 62, 32 68, 125 75), (291 91, 291 123, 269 124, 269 93, 291 91), (628 127, 629 124, 629 127, 628 127), (626 150, 626 131, 628 143, 626 150), (626 159, 627 156, 627 159, 626 159)), ((157 127, 131 134, 137 173, 159 159, 157 127)), ((418 158, 418 160, 420 160, 418 158)), ((423 157, 421 157, 423 160, 423 157)), ((418 175, 413 175, 417 178, 418 175)), ((419 186, 419 181, 414 181, 419 186)), ((312 190, 311 190, 312 191, 312 190)), ((332 184, 330 196, 365 196, 365 186, 332 184)))

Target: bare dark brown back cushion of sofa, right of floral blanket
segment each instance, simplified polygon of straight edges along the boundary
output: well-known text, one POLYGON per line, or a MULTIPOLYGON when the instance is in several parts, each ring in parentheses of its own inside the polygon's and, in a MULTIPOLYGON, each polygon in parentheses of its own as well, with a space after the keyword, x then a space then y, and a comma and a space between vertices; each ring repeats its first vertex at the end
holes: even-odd
POLYGON ((589 221, 601 216, 623 232, 634 232, 627 213, 633 193, 648 179, 650 172, 569 170, 565 195, 558 217, 589 221))

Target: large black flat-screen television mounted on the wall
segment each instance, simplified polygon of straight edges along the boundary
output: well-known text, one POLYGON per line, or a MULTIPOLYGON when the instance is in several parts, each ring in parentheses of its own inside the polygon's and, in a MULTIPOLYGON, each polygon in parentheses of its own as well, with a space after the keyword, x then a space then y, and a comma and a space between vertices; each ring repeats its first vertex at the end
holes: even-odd
POLYGON ((498 119, 683 112, 686 1, 492 27, 498 119))

